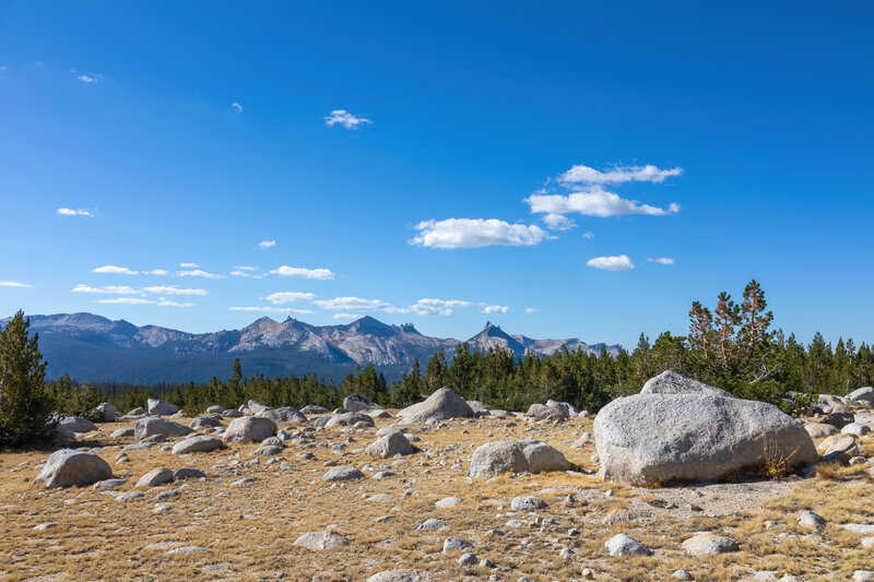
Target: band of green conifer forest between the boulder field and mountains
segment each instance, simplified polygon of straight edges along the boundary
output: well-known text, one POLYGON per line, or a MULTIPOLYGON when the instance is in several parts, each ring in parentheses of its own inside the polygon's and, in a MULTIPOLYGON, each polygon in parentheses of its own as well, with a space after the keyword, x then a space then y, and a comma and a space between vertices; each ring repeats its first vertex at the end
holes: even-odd
POLYGON ((76 382, 64 376, 50 383, 59 408, 83 414, 102 401, 122 412, 161 397, 189 413, 220 404, 236 407, 249 399, 269 406, 307 404, 339 407, 351 393, 387 407, 401 407, 421 395, 448 385, 468 400, 506 409, 527 409, 533 403, 557 400, 597 411, 612 399, 637 392, 649 378, 671 369, 730 391, 736 396, 778 404, 804 405, 818 393, 845 394, 874 383, 874 349, 864 342, 839 338, 827 343, 816 333, 810 343, 772 329, 761 286, 752 281, 740 301, 721 293, 712 308, 695 301, 685 336, 664 332, 640 335, 637 345, 613 358, 566 348, 551 356, 471 351, 461 344, 447 360, 442 352, 388 382, 373 365, 356 369, 339 382, 304 375, 267 378, 241 370, 237 361, 228 378, 209 383, 131 385, 76 382), (246 373, 244 373, 246 372, 246 373))

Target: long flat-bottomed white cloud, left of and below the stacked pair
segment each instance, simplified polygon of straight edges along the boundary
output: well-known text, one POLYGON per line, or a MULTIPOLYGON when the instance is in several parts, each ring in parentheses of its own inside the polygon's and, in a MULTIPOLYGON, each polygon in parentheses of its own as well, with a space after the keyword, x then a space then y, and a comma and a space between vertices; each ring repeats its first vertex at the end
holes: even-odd
POLYGON ((531 246, 550 238, 536 225, 510 224, 495 218, 448 218, 424 221, 410 242, 435 249, 479 248, 489 245, 531 246))

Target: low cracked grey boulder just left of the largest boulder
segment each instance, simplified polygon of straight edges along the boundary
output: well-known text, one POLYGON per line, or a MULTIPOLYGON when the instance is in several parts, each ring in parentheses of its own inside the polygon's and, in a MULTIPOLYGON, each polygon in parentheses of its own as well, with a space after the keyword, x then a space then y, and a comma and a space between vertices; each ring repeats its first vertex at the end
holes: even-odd
POLYGON ((471 456, 471 477, 494 477, 501 473, 568 471, 571 464, 562 452, 542 440, 503 440, 481 444, 471 456))

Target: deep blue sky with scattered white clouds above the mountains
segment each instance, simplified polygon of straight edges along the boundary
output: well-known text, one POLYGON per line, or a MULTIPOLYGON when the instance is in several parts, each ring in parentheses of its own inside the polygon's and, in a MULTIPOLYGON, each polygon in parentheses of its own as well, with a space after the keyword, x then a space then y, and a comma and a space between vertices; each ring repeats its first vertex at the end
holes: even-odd
POLYGON ((874 342, 874 4, 0 3, 0 316, 874 342))

